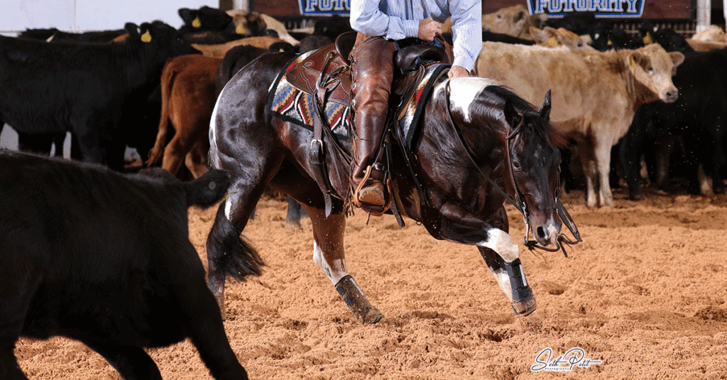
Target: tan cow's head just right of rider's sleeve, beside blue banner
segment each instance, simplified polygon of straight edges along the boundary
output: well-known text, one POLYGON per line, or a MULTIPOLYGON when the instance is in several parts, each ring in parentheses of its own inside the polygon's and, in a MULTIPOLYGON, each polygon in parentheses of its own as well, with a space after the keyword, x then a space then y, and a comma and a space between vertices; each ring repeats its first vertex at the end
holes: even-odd
POLYGON ((482 30, 534 41, 530 27, 540 29, 545 20, 547 20, 547 15, 530 15, 524 5, 518 4, 482 15, 482 30))

